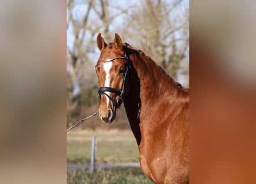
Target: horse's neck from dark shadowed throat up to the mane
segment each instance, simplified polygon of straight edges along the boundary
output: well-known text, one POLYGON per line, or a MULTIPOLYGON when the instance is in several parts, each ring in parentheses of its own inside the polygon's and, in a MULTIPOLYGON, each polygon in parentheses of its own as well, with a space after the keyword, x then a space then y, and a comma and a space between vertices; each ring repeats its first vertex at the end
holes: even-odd
POLYGON ((143 107, 155 109, 156 104, 169 100, 166 98, 177 98, 182 93, 162 68, 140 55, 130 55, 132 82, 129 94, 124 98, 125 111, 138 145, 142 139, 139 124, 148 118, 148 112, 143 107))

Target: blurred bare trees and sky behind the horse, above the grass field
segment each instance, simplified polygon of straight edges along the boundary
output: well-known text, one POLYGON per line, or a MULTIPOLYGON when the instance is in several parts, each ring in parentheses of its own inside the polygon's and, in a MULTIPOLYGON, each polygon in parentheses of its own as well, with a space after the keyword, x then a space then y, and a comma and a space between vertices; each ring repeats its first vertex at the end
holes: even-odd
MULTIPOLYGON (((142 50, 184 87, 189 87, 189 1, 67 1, 67 126, 98 109, 100 56, 96 38, 114 33, 142 50)), ((86 129, 129 129, 124 108, 112 125, 86 122, 86 129)), ((83 125, 81 126, 82 128, 83 125)))

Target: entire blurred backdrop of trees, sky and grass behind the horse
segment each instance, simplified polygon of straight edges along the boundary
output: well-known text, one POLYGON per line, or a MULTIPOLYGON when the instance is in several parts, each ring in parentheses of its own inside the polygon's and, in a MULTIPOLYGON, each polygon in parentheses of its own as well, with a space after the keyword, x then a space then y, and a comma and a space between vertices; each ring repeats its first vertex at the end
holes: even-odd
MULTIPOLYGON (((189 1, 67 1, 67 127, 98 110, 98 78, 94 66, 114 33, 123 43, 142 50, 184 87, 189 87, 189 1)), ((104 124, 93 117, 67 133, 67 183, 152 183, 137 167, 90 170, 91 137, 97 137, 96 164, 137 163, 139 151, 124 107, 104 124)))

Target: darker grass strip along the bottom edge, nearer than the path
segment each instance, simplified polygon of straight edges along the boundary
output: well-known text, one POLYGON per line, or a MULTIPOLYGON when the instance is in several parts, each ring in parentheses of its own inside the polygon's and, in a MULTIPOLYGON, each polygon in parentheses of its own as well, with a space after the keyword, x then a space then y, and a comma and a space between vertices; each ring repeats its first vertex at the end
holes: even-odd
POLYGON ((95 174, 91 176, 89 170, 77 169, 67 171, 67 184, 132 184, 140 183, 147 184, 152 183, 150 179, 143 175, 140 168, 112 168, 98 169, 95 174))

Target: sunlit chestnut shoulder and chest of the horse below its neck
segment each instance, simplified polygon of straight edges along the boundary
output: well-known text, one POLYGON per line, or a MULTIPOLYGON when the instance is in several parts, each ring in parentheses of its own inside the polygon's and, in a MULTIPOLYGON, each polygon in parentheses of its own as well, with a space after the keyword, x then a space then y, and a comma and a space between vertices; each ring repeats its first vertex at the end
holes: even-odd
MULTIPOLYGON (((168 104, 168 100, 165 102, 168 104)), ((174 111, 165 108, 161 113, 159 106, 155 109, 158 116, 151 116, 151 120, 147 118, 140 125, 144 138, 140 163, 143 172, 155 183, 189 181, 188 102, 176 105, 174 111)))

